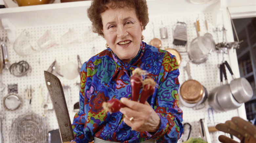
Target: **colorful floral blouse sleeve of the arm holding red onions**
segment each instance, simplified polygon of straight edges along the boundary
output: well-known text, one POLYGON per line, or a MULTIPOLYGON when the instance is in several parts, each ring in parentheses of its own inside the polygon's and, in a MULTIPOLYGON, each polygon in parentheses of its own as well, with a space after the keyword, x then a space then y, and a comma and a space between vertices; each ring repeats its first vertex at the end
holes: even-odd
POLYGON ((178 62, 175 56, 165 53, 158 78, 159 87, 154 110, 160 117, 160 128, 151 136, 157 142, 177 142, 183 134, 183 112, 178 105, 178 62))

